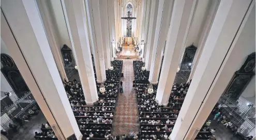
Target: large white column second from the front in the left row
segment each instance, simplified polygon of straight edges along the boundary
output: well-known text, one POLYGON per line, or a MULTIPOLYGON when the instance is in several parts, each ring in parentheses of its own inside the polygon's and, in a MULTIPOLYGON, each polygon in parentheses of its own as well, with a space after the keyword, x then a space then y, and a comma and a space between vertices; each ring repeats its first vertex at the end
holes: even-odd
POLYGON ((93 104, 98 100, 98 93, 89 45, 89 31, 86 27, 85 5, 80 1, 70 0, 63 0, 62 5, 85 101, 87 104, 93 104))

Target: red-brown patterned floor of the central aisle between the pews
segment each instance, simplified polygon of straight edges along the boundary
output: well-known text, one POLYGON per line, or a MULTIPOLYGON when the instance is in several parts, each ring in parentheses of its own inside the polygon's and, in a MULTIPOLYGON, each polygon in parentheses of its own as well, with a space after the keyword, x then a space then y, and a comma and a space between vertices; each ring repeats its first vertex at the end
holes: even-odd
POLYGON ((132 90, 133 60, 124 59, 123 63, 123 90, 124 93, 118 95, 116 112, 113 122, 113 135, 129 134, 131 131, 139 131, 139 118, 137 110, 137 99, 132 90))

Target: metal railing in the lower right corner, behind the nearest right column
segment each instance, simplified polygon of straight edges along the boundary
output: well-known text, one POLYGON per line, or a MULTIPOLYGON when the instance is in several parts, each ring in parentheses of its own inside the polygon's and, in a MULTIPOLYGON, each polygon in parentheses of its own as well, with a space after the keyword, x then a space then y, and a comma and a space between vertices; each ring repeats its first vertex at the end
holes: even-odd
POLYGON ((238 133, 243 136, 255 128, 255 108, 248 107, 248 101, 239 97, 239 99, 230 98, 230 94, 222 94, 219 101, 221 112, 238 127, 238 133))

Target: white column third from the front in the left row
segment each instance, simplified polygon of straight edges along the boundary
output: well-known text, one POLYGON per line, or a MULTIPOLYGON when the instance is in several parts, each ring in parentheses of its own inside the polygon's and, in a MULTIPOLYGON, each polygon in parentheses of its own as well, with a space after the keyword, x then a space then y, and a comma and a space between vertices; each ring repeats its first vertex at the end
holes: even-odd
POLYGON ((102 27, 99 10, 99 0, 88 0, 86 3, 86 13, 89 23, 92 45, 94 48, 94 62, 97 75, 97 82, 106 81, 105 63, 103 55, 102 27))

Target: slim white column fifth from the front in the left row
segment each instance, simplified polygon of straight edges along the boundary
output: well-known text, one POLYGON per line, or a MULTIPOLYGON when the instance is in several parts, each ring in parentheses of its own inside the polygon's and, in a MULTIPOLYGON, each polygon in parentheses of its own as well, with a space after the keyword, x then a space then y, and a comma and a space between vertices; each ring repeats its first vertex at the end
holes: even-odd
POLYGON ((111 60, 114 60, 113 58, 115 57, 115 9, 113 7, 115 7, 115 0, 110 0, 108 1, 107 5, 108 5, 108 15, 109 15, 109 34, 110 34, 110 42, 111 45, 110 47, 112 48, 112 54, 113 56, 110 54, 111 56, 111 60))

